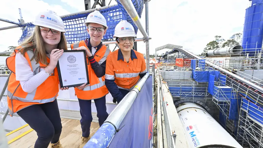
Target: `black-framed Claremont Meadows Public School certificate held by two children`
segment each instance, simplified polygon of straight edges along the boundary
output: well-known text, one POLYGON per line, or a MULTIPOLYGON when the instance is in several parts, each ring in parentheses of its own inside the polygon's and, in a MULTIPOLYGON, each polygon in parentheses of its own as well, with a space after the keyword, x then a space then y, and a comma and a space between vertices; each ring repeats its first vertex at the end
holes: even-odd
POLYGON ((89 84, 85 50, 64 50, 57 62, 60 87, 89 84))

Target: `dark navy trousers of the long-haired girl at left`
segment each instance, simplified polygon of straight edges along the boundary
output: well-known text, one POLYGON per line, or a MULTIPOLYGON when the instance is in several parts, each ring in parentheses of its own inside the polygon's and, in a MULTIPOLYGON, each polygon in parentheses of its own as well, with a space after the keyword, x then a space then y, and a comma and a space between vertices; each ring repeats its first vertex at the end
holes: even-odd
POLYGON ((57 143, 62 131, 57 99, 53 102, 35 104, 17 112, 33 128, 38 139, 34 148, 47 148, 49 143, 57 143))

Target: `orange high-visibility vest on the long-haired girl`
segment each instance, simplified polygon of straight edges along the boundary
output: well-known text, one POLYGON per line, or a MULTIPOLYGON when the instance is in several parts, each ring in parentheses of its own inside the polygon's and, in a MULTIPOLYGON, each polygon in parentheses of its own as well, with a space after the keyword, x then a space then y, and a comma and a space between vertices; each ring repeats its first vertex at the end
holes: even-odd
MULTIPOLYGON (((57 67, 54 69, 51 76, 49 76, 33 92, 27 93, 23 91, 20 81, 16 80, 15 75, 15 56, 16 53, 21 49, 22 46, 18 46, 16 49, 14 49, 14 52, 10 55, 10 57, 6 59, 7 68, 11 71, 7 86, 7 103, 11 117, 14 113, 22 110, 25 107, 34 104, 53 102, 57 98, 59 92, 59 77, 57 67)), ((41 71, 42 68, 45 68, 46 65, 42 64, 40 61, 37 63, 35 59, 30 61, 33 55, 33 50, 29 50, 25 53, 25 58, 27 59, 34 75, 36 75, 41 71)), ((50 62, 48 57, 47 62, 50 62)))

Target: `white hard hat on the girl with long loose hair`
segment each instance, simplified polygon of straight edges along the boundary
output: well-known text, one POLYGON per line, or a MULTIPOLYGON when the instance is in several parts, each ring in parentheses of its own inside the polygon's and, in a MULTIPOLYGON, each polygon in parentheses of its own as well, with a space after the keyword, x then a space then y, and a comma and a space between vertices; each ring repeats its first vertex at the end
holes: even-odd
POLYGON ((56 12, 51 10, 38 13, 32 23, 34 25, 51 28, 60 32, 66 32, 64 22, 61 17, 59 17, 56 12))

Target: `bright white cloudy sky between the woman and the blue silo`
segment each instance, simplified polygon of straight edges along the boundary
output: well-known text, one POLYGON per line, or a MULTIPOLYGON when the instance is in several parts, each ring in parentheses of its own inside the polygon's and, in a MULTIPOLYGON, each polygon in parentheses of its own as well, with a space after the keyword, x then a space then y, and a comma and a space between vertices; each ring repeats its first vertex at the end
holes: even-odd
MULTIPOLYGON (((185 0, 167 3, 150 1, 150 54, 154 54, 156 47, 165 44, 180 45, 201 54, 214 36, 228 39, 235 33, 242 33, 247 4, 247 1, 239 0, 185 0)), ((145 9, 141 18, 143 25, 144 13, 145 9)), ((138 33, 138 37, 141 36, 141 33, 138 33)), ((145 44, 138 43, 138 51, 146 53, 145 44)), ((157 53, 165 51, 167 50, 157 53)))

